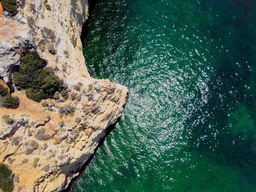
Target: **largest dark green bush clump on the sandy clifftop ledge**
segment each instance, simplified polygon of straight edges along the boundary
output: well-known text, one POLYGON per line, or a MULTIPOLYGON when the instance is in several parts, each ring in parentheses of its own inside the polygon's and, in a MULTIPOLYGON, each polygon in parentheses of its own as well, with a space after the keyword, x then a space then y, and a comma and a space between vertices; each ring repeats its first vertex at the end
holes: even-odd
POLYGON ((19 71, 13 74, 13 82, 26 90, 27 98, 37 102, 53 98, 56 91, 64 89, 63 80, 54 74, 53 68, 46 67, 46 60, 36 51, 22 57, 19 71))

